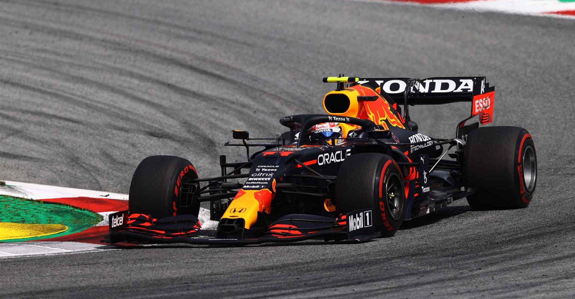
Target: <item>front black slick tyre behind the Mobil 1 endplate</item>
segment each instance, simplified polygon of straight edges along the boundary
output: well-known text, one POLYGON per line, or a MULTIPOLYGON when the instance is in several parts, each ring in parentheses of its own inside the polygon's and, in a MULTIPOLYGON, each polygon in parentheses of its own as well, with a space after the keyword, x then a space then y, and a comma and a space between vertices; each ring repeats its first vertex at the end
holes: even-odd
POLYGON ((362 153, 347 157, 335 184, 335 206, 341 213, 372 208, 375 231, 393 236, 404 218, 405 188, 392 157, 362 153))

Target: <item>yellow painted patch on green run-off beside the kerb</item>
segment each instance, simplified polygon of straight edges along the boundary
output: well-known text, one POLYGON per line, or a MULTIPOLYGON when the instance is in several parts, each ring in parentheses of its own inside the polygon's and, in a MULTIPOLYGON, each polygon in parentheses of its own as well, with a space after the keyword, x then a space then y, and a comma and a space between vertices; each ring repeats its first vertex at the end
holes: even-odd
POLYGON ((67 231, 62 224, 24 224, 0 222, 0 240, 34 238, 48 236, 67 231))

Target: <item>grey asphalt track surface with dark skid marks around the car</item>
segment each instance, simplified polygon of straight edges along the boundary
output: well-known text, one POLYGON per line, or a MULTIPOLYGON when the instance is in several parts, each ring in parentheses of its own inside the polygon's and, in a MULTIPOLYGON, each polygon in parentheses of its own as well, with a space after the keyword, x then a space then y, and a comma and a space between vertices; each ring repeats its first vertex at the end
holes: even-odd
MULTIPOLYGON (((322 112, 321 77, 486 75, 526 127, 530 207, 465 200, 364 244, 144 247, 0 260, 1 298, 575 296, 575 22, 355 1, 0 0, 0 177, 128 192, 139 161, 202 176, 232 129, 322 112)), ((454 135, 468 104, 414 107, 454 135)), ((234 156, 235 155, 235 156, 234 156)), ((240 153, 230 160, 241 159, 240 153)))

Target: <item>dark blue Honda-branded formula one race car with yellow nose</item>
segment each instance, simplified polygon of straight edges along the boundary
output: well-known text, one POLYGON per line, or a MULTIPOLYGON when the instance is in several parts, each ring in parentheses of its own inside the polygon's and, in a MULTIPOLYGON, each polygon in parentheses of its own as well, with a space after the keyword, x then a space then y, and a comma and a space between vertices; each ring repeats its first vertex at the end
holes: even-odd
POLYGON ((233 131, 241 142, 225 146, 245 147, 247 161, 220 156, 221 176, 200 177, 179 157, 145 158, 128 211, 110 215, 108 242, 362 242, 393 236, 404 220, 463 197, 474 209, 530 203, 535 145, 520 127, 479 127, 493 119, 494 87, 485 77, 323 80, 337 84, 323 99, 328 114, 283 117, 289 131, 275 138, 233 131), (410 105, 453 102, 471 102, 455 138, 417 133, 410 105), (211 236, 200 231, 202 202, 219 220, 211 236))

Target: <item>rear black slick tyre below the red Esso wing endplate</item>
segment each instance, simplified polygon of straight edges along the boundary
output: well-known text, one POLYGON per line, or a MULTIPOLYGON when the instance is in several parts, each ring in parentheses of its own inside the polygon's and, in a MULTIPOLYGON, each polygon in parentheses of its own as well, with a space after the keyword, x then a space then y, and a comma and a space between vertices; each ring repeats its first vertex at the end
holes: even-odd
POLYGON ((537 181, 535 144, 520 127, 481 127, 465 145, 465 185, 474 209, 525 208, 537 181))

